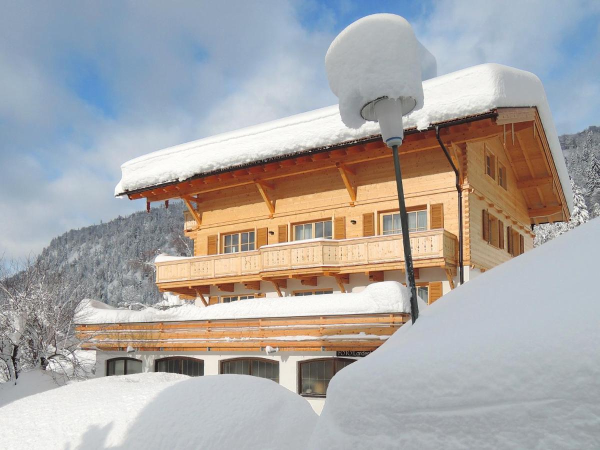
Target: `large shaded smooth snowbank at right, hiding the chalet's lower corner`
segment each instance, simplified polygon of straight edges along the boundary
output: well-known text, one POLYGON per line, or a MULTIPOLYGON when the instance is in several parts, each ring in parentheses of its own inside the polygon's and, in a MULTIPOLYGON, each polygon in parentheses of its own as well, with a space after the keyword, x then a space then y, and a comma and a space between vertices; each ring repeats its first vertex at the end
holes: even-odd
POLYGON ((334 377, 309 448, 600 448, 598 254, 600 219, 443 296, 334 377))

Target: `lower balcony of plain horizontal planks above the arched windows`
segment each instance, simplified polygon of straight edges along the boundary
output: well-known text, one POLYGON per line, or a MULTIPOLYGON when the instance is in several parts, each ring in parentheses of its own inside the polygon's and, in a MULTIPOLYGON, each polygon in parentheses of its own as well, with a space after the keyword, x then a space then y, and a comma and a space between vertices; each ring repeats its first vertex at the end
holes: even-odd
POLYGON ((373 351, 407 320, 410 314, 385 313, 107 323, 77 325, 76 334, 85 350, 260 352, 269 345, 284 352, 373 351))

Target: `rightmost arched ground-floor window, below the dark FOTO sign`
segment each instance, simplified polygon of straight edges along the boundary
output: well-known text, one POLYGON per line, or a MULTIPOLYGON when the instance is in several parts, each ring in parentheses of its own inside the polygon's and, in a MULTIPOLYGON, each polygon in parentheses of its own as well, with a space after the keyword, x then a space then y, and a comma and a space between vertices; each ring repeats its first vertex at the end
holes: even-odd
POLYGON ((298 392, 308 397, 325 397, 329 382, 336 373, 355 359, 311 359, 298 364, 298 392))

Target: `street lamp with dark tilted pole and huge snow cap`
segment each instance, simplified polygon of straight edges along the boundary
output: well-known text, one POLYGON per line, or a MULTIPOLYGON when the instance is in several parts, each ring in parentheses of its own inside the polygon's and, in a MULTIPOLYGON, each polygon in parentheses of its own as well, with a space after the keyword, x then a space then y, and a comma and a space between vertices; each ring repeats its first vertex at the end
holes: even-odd
POLYGON ((358 128, 365 121, 379 122, 383 142, 392 149, 413 323, 419 307, 398 146, 404 138, 403 116, 423 106, 419 47, 406 19, 373 14, 347 26, 325 56, 329 86, 340 100, 344 124, 358 128))

